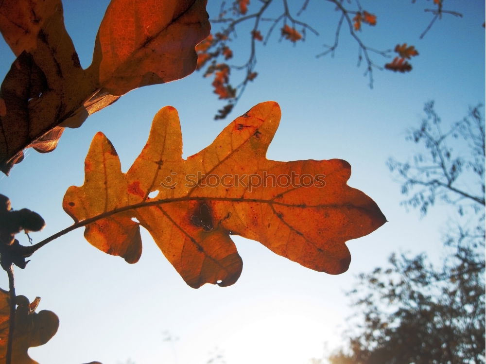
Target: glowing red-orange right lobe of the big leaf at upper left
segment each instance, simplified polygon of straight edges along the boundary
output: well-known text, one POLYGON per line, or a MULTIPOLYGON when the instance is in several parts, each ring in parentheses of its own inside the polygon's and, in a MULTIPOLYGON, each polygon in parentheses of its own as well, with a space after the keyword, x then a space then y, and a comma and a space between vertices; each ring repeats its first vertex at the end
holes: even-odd
POLYGON ((208 34, 206 0, 112 0, 88 71, 114 96, 174 81, 196 69, 194 47, 208 34))

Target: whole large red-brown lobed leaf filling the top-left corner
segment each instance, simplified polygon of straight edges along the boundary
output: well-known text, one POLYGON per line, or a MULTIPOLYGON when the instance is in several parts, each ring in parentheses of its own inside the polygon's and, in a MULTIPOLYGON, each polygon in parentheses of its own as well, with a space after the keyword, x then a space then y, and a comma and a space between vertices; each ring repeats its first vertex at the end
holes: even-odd
POLYGON ((112 0, 82 69, 61 0, 0 2, 0 31, 16 61, 0 88, 0 170, 33 147, 52 151, 62 128, 141 86, 196 68, 194 47, 209 34, 206 0, 112 0), (57 129, 55 129, 57 128, 57 129))

